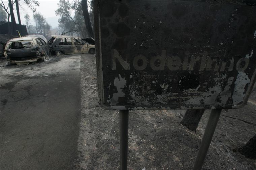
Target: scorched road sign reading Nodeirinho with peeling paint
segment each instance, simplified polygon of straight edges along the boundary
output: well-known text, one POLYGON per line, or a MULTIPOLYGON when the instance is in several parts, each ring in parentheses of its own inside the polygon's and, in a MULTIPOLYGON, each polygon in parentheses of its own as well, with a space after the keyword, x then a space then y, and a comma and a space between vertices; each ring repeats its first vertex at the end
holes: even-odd
POLYGON ((243 0, 95 1, 102 107, 243 106, 256 73, 256 8, 251 5, 243 0))

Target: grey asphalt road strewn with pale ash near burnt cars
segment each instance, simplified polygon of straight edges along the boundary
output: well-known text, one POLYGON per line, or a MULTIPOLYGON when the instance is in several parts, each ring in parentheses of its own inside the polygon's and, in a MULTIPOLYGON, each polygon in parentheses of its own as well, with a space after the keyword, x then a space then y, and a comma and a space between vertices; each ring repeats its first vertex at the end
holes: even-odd
POLYGON ((71 169, 80 120, 80 55, 0 67, 0 169, 71 169))

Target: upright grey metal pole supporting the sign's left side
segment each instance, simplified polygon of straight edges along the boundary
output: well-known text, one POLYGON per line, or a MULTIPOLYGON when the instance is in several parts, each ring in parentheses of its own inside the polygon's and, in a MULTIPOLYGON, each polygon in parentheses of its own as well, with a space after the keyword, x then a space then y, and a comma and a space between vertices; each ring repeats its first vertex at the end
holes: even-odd
POLYGON ((119 111, 120 170, 127 170, 129 110, 119 111))

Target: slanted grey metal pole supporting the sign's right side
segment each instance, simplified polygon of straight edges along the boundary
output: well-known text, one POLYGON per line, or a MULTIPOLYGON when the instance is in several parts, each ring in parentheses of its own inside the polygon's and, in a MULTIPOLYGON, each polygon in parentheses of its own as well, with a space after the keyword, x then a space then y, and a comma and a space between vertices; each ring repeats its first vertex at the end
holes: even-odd
POLYGON ((207 126, 204 131, 201 146, 197 153, 196 162, 193 170, 200 170, 203 166, 203 161, 205 159, 210 143, 212 141, 213 134, 217 126, 220 114, 221 114, 221 109, 214 109, 211 111, 207 126))

